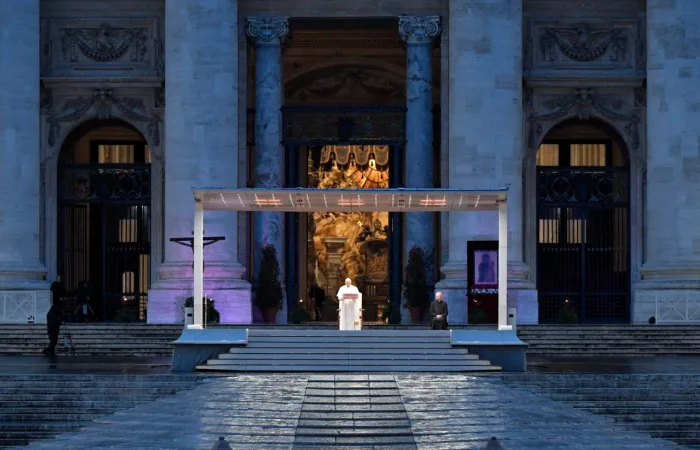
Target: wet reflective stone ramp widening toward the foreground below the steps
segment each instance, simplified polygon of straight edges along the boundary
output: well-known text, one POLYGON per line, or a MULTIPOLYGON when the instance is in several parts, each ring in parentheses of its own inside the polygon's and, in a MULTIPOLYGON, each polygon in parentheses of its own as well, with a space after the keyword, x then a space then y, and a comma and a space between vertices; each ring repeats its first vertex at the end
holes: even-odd
POLYGON ((241 450, 476 450, 490 436, 506 450, 683 448, 510 387, 499 376, 437 373, 208 378, 29 448, 210 449, 219 436, 241 450), (344 439, 363 430, 365 439, 344 439))

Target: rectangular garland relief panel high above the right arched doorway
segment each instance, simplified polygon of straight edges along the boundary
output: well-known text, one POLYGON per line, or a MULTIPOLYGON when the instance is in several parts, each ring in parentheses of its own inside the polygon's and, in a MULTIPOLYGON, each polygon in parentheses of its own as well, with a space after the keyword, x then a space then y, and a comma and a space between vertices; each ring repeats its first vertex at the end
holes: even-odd
POLYGON ((523 67, 526 73, 562 69, 643 71, 644 34, 640 27, 644 24, 637 20, 526 19, 523 67))

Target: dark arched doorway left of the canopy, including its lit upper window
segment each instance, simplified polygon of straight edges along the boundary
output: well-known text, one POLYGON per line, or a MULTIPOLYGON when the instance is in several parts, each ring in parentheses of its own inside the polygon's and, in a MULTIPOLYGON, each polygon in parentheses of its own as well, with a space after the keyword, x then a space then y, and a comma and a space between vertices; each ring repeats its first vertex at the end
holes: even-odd
MULTIPOLYGON (((88 282, 97 319, 146 319, 151 263, 151 151, 118 120, 77 127, 58 160, 57 274, 88 282)), ((70 309, 70 308, 69 308, 70 309)))

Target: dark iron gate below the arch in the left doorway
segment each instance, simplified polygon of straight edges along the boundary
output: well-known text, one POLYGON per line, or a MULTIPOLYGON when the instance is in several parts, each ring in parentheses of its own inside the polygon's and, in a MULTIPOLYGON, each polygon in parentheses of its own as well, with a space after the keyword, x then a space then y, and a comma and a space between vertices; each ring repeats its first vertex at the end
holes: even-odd
POLYGON ((59 164, 58 274, 98 318, 146 319, 150 226, 150 164, 59 164))

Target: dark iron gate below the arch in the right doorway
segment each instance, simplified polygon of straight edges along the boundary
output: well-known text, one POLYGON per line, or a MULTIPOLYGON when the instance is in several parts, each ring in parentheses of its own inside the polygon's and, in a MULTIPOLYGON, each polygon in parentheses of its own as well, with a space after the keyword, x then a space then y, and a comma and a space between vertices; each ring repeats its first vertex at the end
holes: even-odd
POLYGON ((628 321, 627 168, 538 167, 537 189, 540 321, 567 304, 578 322, 628 321))

